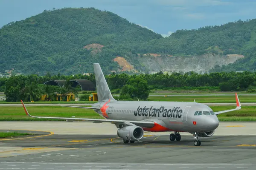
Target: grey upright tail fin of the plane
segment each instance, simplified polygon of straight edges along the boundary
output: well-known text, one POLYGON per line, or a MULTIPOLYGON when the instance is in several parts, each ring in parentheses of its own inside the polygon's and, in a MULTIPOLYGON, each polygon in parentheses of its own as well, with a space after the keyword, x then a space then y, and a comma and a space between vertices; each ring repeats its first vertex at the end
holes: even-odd
POLYGON ((95 74, 96 88, 97 88, 99 102, 115 100, 111 95, 111 92, 108 88, 108 84, 102 73, 102 69, 100 68, 99 63, 94 63, 93 67, 94 67, 94 74, 95 74))

